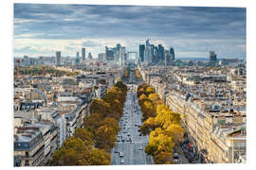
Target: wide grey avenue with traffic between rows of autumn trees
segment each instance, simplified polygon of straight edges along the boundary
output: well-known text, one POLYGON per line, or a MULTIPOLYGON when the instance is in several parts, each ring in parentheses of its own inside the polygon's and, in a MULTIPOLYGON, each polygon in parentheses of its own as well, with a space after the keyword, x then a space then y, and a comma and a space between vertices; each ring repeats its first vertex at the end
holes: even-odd
POLYGON ((148 136, 139 136, 142 113, 137 102, 136 91, 127 92, 123 116, 119 121, 118 140, 111 151, 112 165, 153 164, 152 157, 144 152, 148 136))

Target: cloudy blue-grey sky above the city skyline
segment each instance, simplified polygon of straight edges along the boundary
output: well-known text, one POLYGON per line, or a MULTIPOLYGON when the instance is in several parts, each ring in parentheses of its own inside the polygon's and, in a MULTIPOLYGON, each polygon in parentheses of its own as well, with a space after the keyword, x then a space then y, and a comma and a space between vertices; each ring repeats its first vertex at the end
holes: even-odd
POLYGON ((75 57, 85 47, 97 58, 106 45, 138 51, 148 38, 176 58, 247 56, 246 8, 14 4, 13 16, 15 57, 75 57))

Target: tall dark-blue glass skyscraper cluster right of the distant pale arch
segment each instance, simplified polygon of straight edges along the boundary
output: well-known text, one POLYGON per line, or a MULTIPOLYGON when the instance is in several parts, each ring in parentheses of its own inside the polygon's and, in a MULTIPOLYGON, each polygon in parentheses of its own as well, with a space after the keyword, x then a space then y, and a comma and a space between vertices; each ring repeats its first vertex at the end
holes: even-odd
POLYGON ((162 44, 155 46, 150 44, 149 39, 145 44, 139 44, 139 61, 143 64, 166 64, 174 63, 174 48, 165 50, 162 44))

